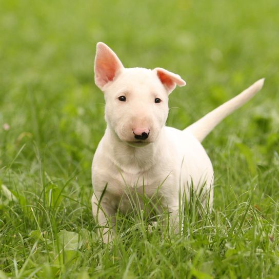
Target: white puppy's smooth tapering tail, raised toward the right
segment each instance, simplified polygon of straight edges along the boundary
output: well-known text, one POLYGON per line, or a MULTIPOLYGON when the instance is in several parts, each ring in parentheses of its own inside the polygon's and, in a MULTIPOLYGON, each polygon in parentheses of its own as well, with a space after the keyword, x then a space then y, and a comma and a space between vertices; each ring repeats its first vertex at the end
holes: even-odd
POLYGON ((246 90, 230 99, 230 101, 224 103, 220 107, 217 107, 197 122, 188 126, 184 131, 190 132, 198 139, 198 141, 202 142, 203 139, 214 129, 214 127, 217 126, 225 117, 244 105, 258 91, 260 91, 264 85, 264 81, 264 78, 259 79, 246 90))

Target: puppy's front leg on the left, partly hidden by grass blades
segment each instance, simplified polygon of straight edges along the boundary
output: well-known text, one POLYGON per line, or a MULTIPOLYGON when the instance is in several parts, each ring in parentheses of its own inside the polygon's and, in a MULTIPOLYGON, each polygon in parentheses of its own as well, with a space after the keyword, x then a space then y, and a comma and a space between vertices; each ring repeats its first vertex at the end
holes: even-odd
POLYGON ((104 243, 109 243, 114 237, 115 226, 115 208, 113 208, 107 201, 99 198, 93 193, 92 196, 92 213, 98 227, 98 235, 102 237, 104 243))

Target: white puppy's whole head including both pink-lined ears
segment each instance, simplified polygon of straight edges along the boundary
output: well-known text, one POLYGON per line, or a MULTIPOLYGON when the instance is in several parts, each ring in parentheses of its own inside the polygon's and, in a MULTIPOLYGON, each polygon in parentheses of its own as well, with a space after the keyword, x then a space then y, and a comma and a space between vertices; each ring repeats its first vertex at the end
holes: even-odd
POLYGON ((95 84, 104 92, 105 118, 118 138, 132 146, 156 141, 168 116, 168 95, 183 79, 162 68, 124 68, 116 54, 98 43, 95 84))

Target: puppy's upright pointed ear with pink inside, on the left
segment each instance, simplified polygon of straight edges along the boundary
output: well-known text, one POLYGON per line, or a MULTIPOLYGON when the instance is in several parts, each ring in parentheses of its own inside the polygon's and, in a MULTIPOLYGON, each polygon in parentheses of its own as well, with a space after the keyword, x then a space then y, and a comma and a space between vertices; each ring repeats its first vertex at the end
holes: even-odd
POLYGON ((124 69, 117 55, 104 43, 97 43, 95 57, 95 84, 99 89, 113 79, 124 69))

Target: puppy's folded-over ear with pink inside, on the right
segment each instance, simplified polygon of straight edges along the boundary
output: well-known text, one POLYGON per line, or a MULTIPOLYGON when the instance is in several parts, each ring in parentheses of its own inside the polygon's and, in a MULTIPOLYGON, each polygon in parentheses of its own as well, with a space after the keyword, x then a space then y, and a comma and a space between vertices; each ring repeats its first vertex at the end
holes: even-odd
POLYGON ((178 74, 174 74, 163 68, 155 68, 153 71, 157 73, 158 78, 160 78, 161 83, 165 86, 168 93, 171 93, 176 85, 186 85, 186 82, 178 74))

